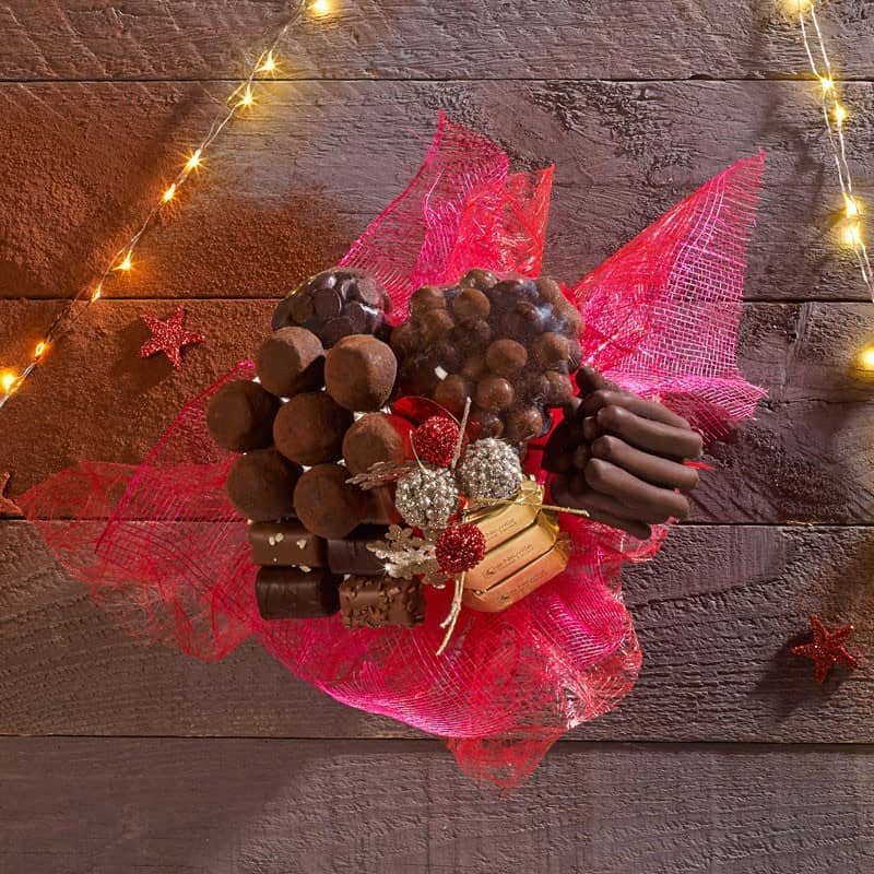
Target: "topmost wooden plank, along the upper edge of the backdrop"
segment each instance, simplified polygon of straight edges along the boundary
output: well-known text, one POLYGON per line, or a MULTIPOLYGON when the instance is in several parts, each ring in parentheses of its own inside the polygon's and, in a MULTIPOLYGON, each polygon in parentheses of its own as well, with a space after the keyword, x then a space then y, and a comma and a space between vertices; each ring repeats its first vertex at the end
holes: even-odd
MULTIPOLYGON (((757 0, 332 0, 281 46, 281 74, 320 79, 737 79, 806 73, 798 25, 757 0)), ((3 4, 4 79, 239 76, 294 0, 3 4)), ((870 76, 864 0, 823 11, 842 75, 870 76)))

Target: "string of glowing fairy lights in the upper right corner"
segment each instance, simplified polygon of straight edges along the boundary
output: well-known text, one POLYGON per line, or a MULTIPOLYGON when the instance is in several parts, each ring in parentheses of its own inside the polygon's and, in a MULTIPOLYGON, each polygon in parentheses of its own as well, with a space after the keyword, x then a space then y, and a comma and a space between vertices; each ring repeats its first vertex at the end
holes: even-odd
MULTIPOLYGON (((867 247, 862 233, 862 204, 853 190, 853 179, 850 166, 847 163, 847 119, 849 113, 841 103, 838 83, 828 56, 826 40, 819 27, 819 17, 816 14, 816 0, 792 0, 792 7, 798 13, 801 39, 811 72, 820 85, 820 105, 823 119, 828 134, 828 144, 838 172, 838 184, 843 198, 843 222, 841 237, 855 253, 862 282, 869 291, 869 296, 874 300, 874 275, 872 275, 871 261, 867 247), (813 33, 813 38, 812 34, 813 33)), ((866 351, 867 352, 867 351, 866 351)), ((874 350, 871 351, 871 365, 874 366, 874 350)))

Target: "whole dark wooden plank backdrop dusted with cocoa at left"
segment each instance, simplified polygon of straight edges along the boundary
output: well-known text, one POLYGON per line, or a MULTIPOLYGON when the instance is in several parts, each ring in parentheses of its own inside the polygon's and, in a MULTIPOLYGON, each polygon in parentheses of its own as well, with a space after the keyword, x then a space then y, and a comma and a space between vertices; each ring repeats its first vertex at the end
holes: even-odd
MULTIPOLYGON (((0 8, 0 366, 152 202, 284 14, 280 0, 0 8)), ((343 0, 300 22, 137 269, 0 411, 13 496, 135 461, 250 354, 273 302, 395 194, 439 108, 520 168, 555 161, 546 268, 572 281, 741 155, 768 152, 740 358, 757 421, 689 524, 626 575, 645 649, 614 713, 525 788, 341 707, 258 647, 202 665, 116 630, 0 520, 0 871, 869 872, 874 858, 874 339, 795 26, 771 0, 343 0), (142 362, 143 311, 208 342, 142 362), (859 626, 823 687, 806 616, 859 626)), ((872 192, 874 16, 823 3, 872 192)))

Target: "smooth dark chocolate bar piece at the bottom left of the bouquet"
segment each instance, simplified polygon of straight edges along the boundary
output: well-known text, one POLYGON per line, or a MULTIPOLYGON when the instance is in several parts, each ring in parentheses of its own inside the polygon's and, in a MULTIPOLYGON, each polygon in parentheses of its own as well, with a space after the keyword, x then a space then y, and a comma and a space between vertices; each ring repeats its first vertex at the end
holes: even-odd
POLYGON ((310 619, 340 609, 340 577, 327 570, 262 567, 255 580, 258 610, 264 619, 310 619))

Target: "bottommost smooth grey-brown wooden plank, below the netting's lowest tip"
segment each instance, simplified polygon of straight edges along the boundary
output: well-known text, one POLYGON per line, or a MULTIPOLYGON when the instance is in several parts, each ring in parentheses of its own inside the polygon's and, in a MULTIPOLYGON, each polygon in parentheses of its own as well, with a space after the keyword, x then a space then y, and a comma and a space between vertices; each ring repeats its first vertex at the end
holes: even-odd
POLYGON ((19 739, 0 755, 9 874, 865 874, 874 862, 869 747, 565 744, 509 799, 429 742, 19 739))

